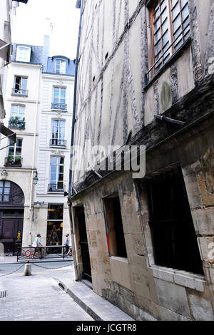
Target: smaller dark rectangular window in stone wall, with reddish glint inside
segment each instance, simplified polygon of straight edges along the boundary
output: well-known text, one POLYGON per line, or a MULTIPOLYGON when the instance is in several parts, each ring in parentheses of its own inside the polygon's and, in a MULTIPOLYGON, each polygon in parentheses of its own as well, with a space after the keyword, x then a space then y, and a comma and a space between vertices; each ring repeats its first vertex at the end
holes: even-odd
POLYGON ((104 203, 109 254, 111 256, 127 257, 119 197, 108 197, 104 200, 104 203))

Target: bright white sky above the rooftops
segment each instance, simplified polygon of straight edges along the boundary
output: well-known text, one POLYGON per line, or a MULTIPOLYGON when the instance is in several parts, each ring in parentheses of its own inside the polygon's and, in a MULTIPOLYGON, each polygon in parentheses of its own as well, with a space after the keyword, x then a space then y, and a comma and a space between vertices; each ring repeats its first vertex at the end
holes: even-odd
POLYGON ((53 25, 49 56, 76 58, 80 9, 76 0, 29 0, 19 4, 12 27, 12 42, 43 46, 44 33, 53 25), (49 21, 49 23, 50 23, 49 21))

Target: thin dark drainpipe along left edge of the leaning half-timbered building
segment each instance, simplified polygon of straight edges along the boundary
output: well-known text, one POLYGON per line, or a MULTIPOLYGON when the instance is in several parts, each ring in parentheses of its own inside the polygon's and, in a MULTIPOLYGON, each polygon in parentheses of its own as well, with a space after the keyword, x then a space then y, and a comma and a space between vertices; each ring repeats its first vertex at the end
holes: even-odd
MULTIPOLYGON (((77 76, 78 76, 78 57, 79 57, 79 48, 80 48, 80 39, 81 39, 81 24, 82 24, 82 16, 83 16, 83 1, 77 1, 77 8, 81 8, 80 20, 79 20, 79 28, 78 28, 78 44, 76 51, 76 66, 75 66, 75 81, 74 81, 74 93, 73 93, 73 118, 72 118, 72 129, 71 129, 71 156, 70 156, 70 171, 69 171, 69 190, 68 196, 72 195, 72 163, 73 163, 73 142, 74 142, 74 128, 75 128, 75 118, 76 118, 76 91, 77 91, 77 76)), ((71 212, 71 201, 68 197, 68 211, 71 222, 71 241, 72 241, 72 252, 73 252, 73 265, 75 271, 76 282, 78 282, 78 267, 76 261, 76 244, 75 244, 75 230, 74 230, 74 220, 71 212)))

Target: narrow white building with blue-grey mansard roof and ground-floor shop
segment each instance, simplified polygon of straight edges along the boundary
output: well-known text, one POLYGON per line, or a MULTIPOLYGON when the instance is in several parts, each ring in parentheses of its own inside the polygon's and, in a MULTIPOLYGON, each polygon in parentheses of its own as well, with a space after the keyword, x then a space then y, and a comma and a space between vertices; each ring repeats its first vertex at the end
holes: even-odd
POLYGON ((44 245, 63 244, 70 232, 67 197, 73 108, 74 62, 63 56, 46 57, 49 36, 44 38, 44 68, 39 115, 38 184, 32 234, 41 234, 44 245))

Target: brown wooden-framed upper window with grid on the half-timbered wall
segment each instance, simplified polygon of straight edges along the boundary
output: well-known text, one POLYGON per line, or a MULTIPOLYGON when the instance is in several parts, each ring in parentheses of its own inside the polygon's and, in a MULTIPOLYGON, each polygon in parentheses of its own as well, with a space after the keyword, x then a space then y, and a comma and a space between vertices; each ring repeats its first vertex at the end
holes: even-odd
POLYGON ((150 11, 153 46, 150 51, 151 76, 188 39, 190 29, 188 0, 156 0, 150 11))

